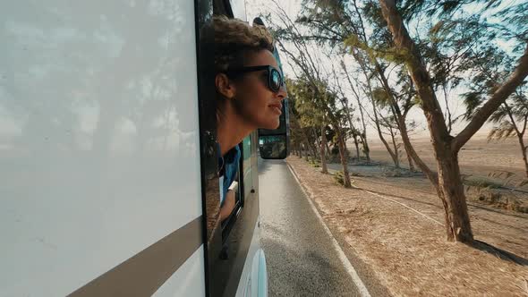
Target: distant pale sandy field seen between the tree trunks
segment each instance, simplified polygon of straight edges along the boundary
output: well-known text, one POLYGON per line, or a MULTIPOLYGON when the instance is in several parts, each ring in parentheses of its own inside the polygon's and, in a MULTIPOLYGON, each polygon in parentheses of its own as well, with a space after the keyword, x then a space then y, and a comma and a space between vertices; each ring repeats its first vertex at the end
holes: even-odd
MULTIPOLYGON (((428 138, 414 138, 413 146, 431 169, 436 170, 433 152, 428 138)), ((370 140, 370 157, 373 160, 392 164, 392 159, 379 140, 370 140)), ((351 151, 355 151, 353 143, 347 143, 351 151)), ((405 150, 402 148, 405 155, 405 150)), ((402 164, 407 166, 407 157, 400 157, 402 164)), ((521 148, 516 139, 492 140, 488 142, 484 135, 476 135, 469 140, 458 156, 463 174, 487 176, 496 171, 508 171, 515 174, 512 182, 524 179, 524 163, 521 148)))

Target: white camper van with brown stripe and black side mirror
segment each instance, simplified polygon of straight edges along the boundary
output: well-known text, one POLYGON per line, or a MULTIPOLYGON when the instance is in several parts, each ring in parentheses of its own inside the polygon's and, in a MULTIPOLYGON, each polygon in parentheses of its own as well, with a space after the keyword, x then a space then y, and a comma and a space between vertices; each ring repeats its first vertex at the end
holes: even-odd
POLYGON ((244 1, 0 4, 1 297, 267 295, 257 149, 287 155, 287 112, 219 222, 213 13, 244 1))

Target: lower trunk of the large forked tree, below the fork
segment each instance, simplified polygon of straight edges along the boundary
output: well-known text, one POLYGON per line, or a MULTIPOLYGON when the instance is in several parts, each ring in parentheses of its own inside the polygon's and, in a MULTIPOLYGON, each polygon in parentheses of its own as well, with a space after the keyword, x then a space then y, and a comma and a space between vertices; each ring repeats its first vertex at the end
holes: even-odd
POLYGON ((435 148, 435 153, 445 154, 437 157, 439 169, 439 198, 445 209, 447 240, 450 242, 473 242, 467 205, 465 203, 464 184, 460 178, 457 153, 451 153, 450 147, 435 148))

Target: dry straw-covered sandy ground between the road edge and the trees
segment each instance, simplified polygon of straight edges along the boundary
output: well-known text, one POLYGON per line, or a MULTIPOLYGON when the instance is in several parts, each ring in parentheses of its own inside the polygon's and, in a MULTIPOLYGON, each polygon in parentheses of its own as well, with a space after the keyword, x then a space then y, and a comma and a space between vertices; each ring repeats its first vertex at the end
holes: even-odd
POLYGON ((519 264, 447 242, 443 210, 427 181, 356 177, 360 189, 345 189, 298 157, 287 161, 336 236, 393 295, 528 296, 528 215, 469 208, 475 238, 515 254, 519 264))

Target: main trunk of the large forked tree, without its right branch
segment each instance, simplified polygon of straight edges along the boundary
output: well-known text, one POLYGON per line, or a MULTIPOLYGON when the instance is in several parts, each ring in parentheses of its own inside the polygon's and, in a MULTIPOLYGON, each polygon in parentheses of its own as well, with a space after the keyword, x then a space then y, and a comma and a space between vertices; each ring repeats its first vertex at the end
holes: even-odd
MULTIPOLYGON (((396 47, 408 51, 405 62, 418 96, 422 99, 422 110, 428 122, 431 144, 438 165, 437 189, 446 211, 447 240, 471 243, 473 242, 473 233, 457 158, 458 149, 462 147, 461 144, 464 142, 454 143, 453 137, 447 132, 444 115, 431 87, 430 73, 422 62, 422 55, 418 47, 405 28, 404 21, 396 9, 395 0, 379 0, 379 4, 396 47)), ((402 138, 404 138, 403 134, 402 138)), ((407 138, 406 136, 405 138, 407 138)), ((464 140, 463 137, 460 141, 464 140)), ((405 142, 407 141, 408 138, 405 142)), ((405 145, 407 144, 410 142, 405 143, 405 145)), ((413 150, 410 152, 415 153, 413 150)), ((422 168, 422 164, 420 166, 422 168)), ((434 180, 430 173, 424 173, 428 174, 430 180, 434 180)))

